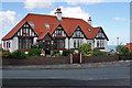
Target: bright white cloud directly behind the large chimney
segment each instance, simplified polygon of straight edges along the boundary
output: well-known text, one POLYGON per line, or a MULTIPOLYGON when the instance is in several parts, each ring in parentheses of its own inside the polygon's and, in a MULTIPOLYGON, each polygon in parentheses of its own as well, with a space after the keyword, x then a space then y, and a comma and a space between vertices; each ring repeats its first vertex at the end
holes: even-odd
MULTIPOLYGON (((89 19, 89 14, 87 12, 82 11, 82 9, 80 7, 74 7, 74 8, 61 7, 61 9, 62 9, 63 16, 84 19, 85 21, 87 21, 89 19)), ((51 11, 52 15, 55 15, 54 14, 55 10, 51 11)))

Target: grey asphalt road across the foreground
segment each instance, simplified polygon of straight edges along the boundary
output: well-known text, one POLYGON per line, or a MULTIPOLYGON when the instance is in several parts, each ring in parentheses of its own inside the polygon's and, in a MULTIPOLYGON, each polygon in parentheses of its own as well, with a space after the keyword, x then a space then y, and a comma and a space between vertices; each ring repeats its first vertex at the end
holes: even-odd
POLYGON ((3 86, 130 86, 130 67, 3 70, 3 86), (35 82, 35 84, 34 84, 35 82))

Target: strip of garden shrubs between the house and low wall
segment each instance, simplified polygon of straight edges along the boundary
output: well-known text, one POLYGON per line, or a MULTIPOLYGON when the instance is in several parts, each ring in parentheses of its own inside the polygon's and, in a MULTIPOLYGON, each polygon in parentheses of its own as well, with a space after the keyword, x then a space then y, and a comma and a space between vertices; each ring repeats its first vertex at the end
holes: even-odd
MULTIPOLYGON (((0 48, 2 51, 2 48, 0 48)), ((124 47, 123 45, 119 45, 116 47, 116 52, 111 50, 110 53, 101 52, 98 48, 91 50, 91 46, 89 44, 82 44, 78 48, 70 48, 70 50, 64 50, 63 53, 56 50, 52 50, 51 57, 63 57, 63 56, 69 56, 69 54, 82 54, 82 56, 111 56, 111 55, 119 55, 119 56, 132 56, 132 52, 129 51, 128 47, 124 47), (77 52, 78 51, 78 52, 77 52)), ((24 59, 29 58, 31 56, 41 56, 42 50, 37 45, 33 45, 32 48, 29 51, 28 54, 25 54, 24 51, 14 51, 13 53, 2 51, 0 55, 2 58, 18 58, 18 59, 24 59)), ((44 55, 46 57, 46 55, 44 55)))

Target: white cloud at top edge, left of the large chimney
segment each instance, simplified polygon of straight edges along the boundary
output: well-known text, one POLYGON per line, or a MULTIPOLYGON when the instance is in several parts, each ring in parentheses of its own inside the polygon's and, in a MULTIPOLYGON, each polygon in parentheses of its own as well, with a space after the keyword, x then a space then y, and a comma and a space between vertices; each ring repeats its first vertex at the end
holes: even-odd
POLYGON ((32 10, 32 9, 45 9, 51 8, 53 6, 53 0, 25 0, 24 8, 32 10))

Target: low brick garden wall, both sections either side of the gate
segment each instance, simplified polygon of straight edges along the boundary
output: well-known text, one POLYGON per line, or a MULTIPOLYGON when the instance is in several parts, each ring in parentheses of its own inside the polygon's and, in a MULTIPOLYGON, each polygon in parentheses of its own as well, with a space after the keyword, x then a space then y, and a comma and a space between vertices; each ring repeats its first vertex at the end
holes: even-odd
MULTIPOLYGON (((118 62, 119 56, 82 56, 85 63, 118 62)), ((30 57, 25 59, 3 58, 2 65, 58 65, 69 64, 69 57, 30 57)))

